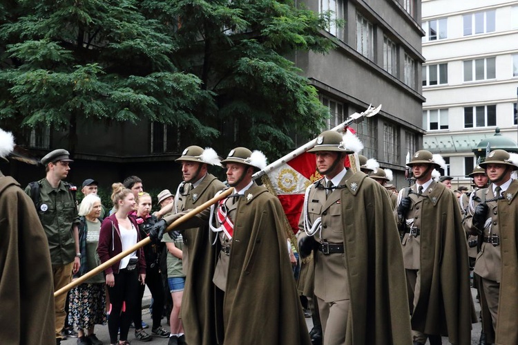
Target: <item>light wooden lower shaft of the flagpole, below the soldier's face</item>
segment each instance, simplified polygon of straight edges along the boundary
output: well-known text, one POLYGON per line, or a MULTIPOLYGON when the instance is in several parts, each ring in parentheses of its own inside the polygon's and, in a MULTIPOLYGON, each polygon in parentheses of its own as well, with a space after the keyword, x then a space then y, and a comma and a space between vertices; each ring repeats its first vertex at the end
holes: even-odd
MULTIPOLYGON (((211 205, 217 203, 218 201, 220 201, 220 200, 222 200, 224 198, 227 198, 227 196, 229 196, 233 192, 233 190, 234 190, 233 187, 231 187, 231 188, 225 190, 224 192, 222 192, 221 194, 218 194, 217 196, 214 196, 213 198, 211 198, 211 200, 207 201, 206 203, 203 203, 202 205, 196 207, 195 209, 192 209, 190 212, 186 213, 184 216, 178 218, 176 221, 173 221, 173 223, 171 223, 166 228, 165 232, 170 232, 171 230, 173 230, 173 228, 175 228, 176 226, 184 223, 185 221, 188 221, 190 218, 193 218, 193 216, 195 216, 196 214, 202 212, 204 209, 207 209, 208 207, 210 207, 211 205)), ((95 276, 95 274, 106 270, 106 268, 108 268, 111 265, 114 265, 115 263, 121 261, 124 257, 127 257, 129 254, 135 252, 135 250, 137 250, 137 249, 140 249, 140 248, 144 247, 144 245, 146 245, 148 243, 151 243, 151 239, 149 237, 146 237, 142 241, 140 241, 140 242, 136 243, 135 245, 133 245, 133 247, 131 247, 131 248, 127 249, 127 250, 124 250, 124 252, 121 252, 121 253, 117 254, 115 257, 109 259, 105 263, 102 263, 101 265, 97 266, 96 268, 93 268, 93 270, 90 270, 90 271, 86 272, 84 275, 82 275, 78 279, 75 279, 74 281, 71 281, 70 283, 68 283, 63 288, 57 290, 56 292, 54 292, 54 297, 57 297, 57 296, 63 294, 64 292, 67 292, 68 290, 70 290, 72 288, 75 288, 76 286, 81 284, 83 281, 86 281, 90 277, 95 276)))

